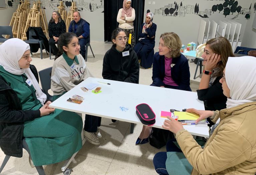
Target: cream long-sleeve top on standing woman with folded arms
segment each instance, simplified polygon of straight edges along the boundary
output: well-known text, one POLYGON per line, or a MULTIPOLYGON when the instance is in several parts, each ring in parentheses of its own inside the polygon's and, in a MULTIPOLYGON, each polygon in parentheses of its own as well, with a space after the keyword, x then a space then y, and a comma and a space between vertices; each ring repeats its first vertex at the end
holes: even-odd
POLYGON ((133 21, 135 20, 135 10, 134 9, 132 10, 131 17, 127 17, 125 14, 125 20, 120 19, 121 14, 122 14, 122 8, 119 9, 116 17, 116 21, 119 23, 118 27, 120 27, 121 29, 134 29, 133 21), (129 21, 131 23, 127 23, 126 21, 129 21))

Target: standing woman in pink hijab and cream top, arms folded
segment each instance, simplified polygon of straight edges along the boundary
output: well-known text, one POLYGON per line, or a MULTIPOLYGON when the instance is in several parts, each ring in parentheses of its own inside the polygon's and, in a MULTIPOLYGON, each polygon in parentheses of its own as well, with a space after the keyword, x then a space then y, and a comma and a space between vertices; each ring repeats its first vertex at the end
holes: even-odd
MULTIPOLYGON (((132 34, 132 43, 134 47, 134 26, 135 10, 131 7, 131 0, 123 0, 123 8, 119 9, 116 21, 119 23, 118 28, 124 29, 127 34, 132 34)), ((127 36, 129 37, 129 36, 127 36)))

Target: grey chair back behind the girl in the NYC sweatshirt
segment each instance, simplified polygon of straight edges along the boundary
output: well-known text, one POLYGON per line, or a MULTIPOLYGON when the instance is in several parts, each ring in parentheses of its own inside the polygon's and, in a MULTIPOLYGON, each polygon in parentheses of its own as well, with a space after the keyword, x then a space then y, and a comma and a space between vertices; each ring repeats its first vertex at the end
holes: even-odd
POLYGON ((48 93, 48 90, 51 88, 51 70, 52 67, 46 68, 38 72, 42 91, 47 95, 47 98, 52 101, 53 96, 48 93))

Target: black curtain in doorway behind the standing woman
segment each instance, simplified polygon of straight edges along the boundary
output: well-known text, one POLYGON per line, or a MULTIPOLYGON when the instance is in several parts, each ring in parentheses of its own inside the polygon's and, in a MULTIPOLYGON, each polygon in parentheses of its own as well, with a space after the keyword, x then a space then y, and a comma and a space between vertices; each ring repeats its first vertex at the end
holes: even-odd
MULTIPOLYGON (((134 20, 135 43, 139 40, 139 30, 144 22, 144 4, 145 0, 132 0, 132 7, 135 9, 136 18, 134 20)), ((112 31, 118 27, 116 21, 117 13, 123 6, 123 0, 105 0, 104 1, 104 40, 111 41, 112 31)))

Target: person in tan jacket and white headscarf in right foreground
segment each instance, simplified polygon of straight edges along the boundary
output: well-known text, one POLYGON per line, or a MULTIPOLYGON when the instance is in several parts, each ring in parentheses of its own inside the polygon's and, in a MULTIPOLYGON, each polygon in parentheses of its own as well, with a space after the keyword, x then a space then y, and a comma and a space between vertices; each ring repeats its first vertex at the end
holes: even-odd
MULTIPOLYGON (((176 134, 182 152, 159 152, 153 162, 158 174, 251 174, 256 172, 256 59, 229 57, 220 79, 227 108, 220 111, 187 109, 217 123, 204 148, 168 117, 163 127, 176 134)), ((169 145, 167 143, 167 151, 169 145)))

